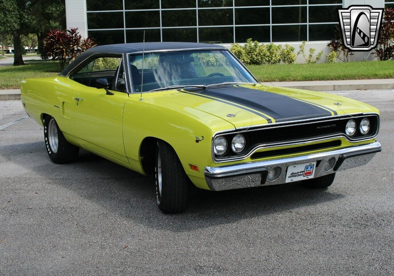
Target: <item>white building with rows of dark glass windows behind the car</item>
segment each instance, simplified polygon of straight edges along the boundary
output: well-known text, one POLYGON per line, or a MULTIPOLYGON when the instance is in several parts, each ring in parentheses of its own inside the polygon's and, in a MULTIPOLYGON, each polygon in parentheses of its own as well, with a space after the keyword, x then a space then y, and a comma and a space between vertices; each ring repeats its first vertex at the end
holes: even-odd
MULTIPOLYGON (((229 46, 252 38, 327 50, 337 9, 394 0, 65 0, 67 28, 99 44, 184 41, 229 46)), ((328 51, 328 50, 327 50, 328 51)))

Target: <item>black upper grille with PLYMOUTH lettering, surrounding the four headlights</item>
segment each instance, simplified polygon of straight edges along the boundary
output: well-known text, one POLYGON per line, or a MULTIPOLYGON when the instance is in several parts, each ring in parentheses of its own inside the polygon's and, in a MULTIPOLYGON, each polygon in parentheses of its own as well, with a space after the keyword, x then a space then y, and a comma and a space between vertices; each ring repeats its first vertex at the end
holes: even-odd
MULTIPOLYGON (((217 136, 224 136, 227 139, 228 148, 225 154, 221 156, 213 154, 213 157, 216 162, 240 160, 247 158, 257 149, 264 147, 275 145, 280 146, 292 143, 306 143, 332 137, 345 137, 348 141, 357 142, 373 139, 376 137, 378 129, 379 116, 375 113, 366 115, 340 115, 320 119, 303 120, 299 122, 267 124, 264 126, 249 128, 245 131, 216 133, 213 139, 217 136), (370 120, 371 128, 368 133, 363 135, 359 131, 359 126, 361 120, 365 117, 370 120), (345 126, 349 119, 354 119, 356 121, 356 132, 351 137, 345 133, 345 126), (238 133, 245 136, 246 146, 242 152, 236 154, 231 150, 231 140, 238 133)), ((261 152, 259 153, 261 154, 261 152)), ((281 154, 278 152, 278 154, 270 156, 276 155, 281 154)))

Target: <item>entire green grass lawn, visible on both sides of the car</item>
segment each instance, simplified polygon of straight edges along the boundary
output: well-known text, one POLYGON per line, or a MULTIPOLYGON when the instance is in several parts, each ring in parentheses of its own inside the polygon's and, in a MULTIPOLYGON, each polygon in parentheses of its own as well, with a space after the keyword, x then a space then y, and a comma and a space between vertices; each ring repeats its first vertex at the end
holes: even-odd
MULTIPOLYGON (((260 82, 361 80, 394 78, 394 61, 248 65, 260 82)), ((56 76, 59 65, 35 61, 23 66, 0 66, 0 89, 18 89, 25 78, 56 76)))

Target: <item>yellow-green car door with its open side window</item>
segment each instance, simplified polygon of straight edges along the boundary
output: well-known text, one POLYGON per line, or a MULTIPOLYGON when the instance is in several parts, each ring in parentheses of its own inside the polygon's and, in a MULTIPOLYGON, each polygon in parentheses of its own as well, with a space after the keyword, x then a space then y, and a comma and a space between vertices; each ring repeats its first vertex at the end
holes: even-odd
POLYGON ((88 73, 81 74, 82 80, 78 79, 78 73, 71 76, 80 83, 74 92, 75 129, 80 144, 105 157, 128 163, 122 133, 123 108, 128 94, 121 56, 97 56, 85 71, 88 73), (102 78, 110 83, 108 89, 95 87, 96 80, 102 78))

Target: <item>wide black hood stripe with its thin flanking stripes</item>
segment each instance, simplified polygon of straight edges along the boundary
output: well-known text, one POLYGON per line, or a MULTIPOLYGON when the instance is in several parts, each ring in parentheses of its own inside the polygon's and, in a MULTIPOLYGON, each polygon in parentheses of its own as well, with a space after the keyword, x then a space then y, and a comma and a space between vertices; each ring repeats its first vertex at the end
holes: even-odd
MULTIPOLYGON (((292 97, 246 87, 189 88, 189 92, 200 96, 211 96, 264 113, 275 122, 329 117, 333 114, 325 107, 316 106, 292 97)), ((216 100, 217 100, 216 99, 216 100)))

